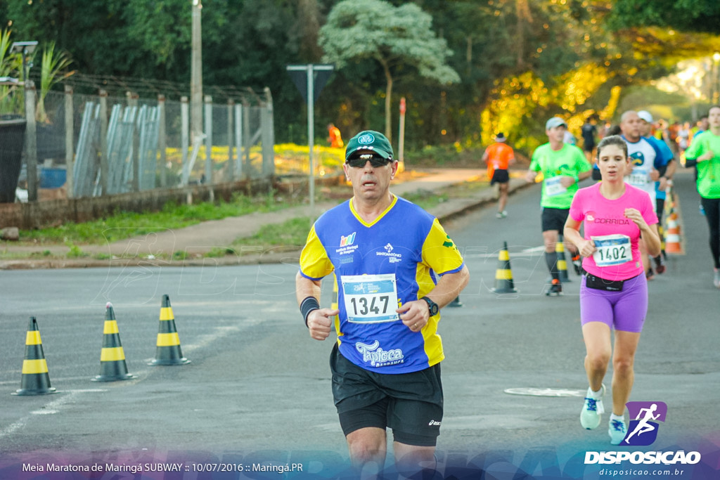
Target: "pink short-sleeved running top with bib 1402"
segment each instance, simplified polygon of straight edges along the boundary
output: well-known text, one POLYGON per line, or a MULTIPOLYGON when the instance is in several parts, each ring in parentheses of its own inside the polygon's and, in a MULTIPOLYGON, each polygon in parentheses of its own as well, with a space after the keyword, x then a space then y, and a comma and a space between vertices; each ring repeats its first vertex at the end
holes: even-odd
POLYGON ((600 194, 600 183, 580 189, 572 199, 570 217, 585 226, 585 239, 594 240, 598 249, 582 260, 582 268, 606 280, 626 280, 644 273, 638 240, 640 229, 625 217, 625 209, 634 208, 647 225, 657 223, 652 201, 646 191, 625 184, 618 199, 600 194))

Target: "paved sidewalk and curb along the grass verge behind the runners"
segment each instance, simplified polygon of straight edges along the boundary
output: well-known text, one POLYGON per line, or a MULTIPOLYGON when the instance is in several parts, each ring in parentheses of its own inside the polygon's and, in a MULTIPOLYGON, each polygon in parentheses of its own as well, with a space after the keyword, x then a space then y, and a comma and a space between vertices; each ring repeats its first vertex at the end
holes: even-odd
MULTIPOLYGON (((431 169, 423 178, 407 181, 402 184, 392 184, 390 191, 397 195, 405 195, 418 190, 437 191, 446 186, 460 184, 469 178, 483 174, 480 168, 473 169, 431 169)), ((526 186, 522 178, 510 178, 510 192, 526 186)), ((348 198, 351 192, 348 193, 348 198)), ((449 199, 429 212, 442 222, 456 215, 464 214, 470 209, 480 207, 487 202, 495 201, 494 189, 483 189, 474 196, 464 199, 449 199)), ((321 202, 315 204, 315 216, 318 217, 328 209, 335 207, 338 201, 321 202)), ((258 250, 243 250, 237 255, 225 255, 220 258, 193 258, 210 252, 213 248, 227 248, 238 237, 255 235, 264 225, 286 222, 295 217, 309 217, 310 205, 282 209, 277 212, 252 213, 240 217, 227 217, 221 220, 211 220, 179 230, 168 230, 158 227, 157 232, 142 237, 132 237, 120 240, 109 245, 78 245, 81 250, 92 255, 108 255, 107 260, 96 258, 32 258, 18 260, 0 260, 1 269, 17 268, 85 268, 97 266, 191 266, 204 265, 208 261, 222 265, 237 265, 251 263, 275 263, 288 258, 292 252, 261 252, 258 250), (174 252, 185 252, 184 260, 164 260, 161 255, 171 257, 174 252)), ((308 226, 309 227, 309 226, 308 226)), ((49 251, 56 257, 65 257, 70 248, 66 245, 13 245, 4 243, 0 248, 8 253, 23 253, 39 256, 49 251)))

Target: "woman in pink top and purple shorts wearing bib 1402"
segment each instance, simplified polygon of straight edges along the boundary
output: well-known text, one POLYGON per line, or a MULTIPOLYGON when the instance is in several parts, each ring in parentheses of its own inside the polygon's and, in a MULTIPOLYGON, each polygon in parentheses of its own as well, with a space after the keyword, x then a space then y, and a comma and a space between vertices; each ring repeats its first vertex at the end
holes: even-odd
POLYGON ((630 398, 635 351, 647 315, 647 279, 638 243, 650 255, 660 254, 657 215, 649 195, 626 184, 627 144, 618 135, 598 145, 602 181, 575 194, 564 227, 565 240, 577 246, 585 275, 580 286, 580 320, 585 340, 588 394, 580 424, 600 425, 603 379, 613 359, 613 406, 608 434, 619 445, 627 434, 625 404, 630 398), (584 237, 580 225, 584 224, 584 237), (615 330, 615 351, 611 331, 615 330))

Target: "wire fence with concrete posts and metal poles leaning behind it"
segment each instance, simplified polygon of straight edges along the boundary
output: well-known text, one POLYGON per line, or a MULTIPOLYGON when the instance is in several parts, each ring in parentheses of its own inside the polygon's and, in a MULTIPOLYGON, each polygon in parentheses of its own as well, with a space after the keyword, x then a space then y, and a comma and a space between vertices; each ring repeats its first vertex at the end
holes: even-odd
POLYGON ((186 97, 50 91, 42 100, 47 117, 36 124, 39 186, 60 186, 57 178, 64 173, 67 196, 77 198, 269 178, 274 174, 269 90, 265 97, 256 104, 213 104, 206 96, 204 132, 191 139, 186 97))

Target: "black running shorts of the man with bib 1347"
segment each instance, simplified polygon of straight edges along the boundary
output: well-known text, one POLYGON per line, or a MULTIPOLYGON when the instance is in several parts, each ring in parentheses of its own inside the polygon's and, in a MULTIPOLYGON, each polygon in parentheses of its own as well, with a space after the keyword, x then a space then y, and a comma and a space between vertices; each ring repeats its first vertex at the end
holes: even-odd
POLYGON ((443 418, 440 364, 411 373, 377 373, 330 354, 333 398, 343 433, 390 427, 396 442, 435 446, 443 418))

